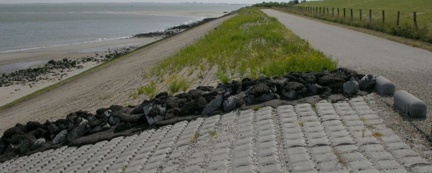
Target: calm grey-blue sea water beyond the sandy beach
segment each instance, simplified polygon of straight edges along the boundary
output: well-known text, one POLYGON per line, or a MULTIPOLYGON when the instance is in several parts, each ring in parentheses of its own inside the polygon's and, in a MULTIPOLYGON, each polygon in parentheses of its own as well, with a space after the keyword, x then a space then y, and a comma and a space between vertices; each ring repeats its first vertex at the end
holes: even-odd
POLYGON ((78 44, 165 30, 208 16, 148 15, 143 11, 227 11, 227 4, 0 4, 0 52, 78 44))

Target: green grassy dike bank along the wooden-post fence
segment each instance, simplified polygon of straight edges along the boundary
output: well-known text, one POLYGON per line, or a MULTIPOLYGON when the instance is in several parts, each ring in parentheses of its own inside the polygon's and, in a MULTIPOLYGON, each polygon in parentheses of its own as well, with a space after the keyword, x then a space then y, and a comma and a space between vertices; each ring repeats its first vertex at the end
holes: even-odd
POLYGON ((311 1, 296 6, 318 7, 318 12, 319 8, 326 10, 325 14, 297 12, 307 16, 432 43, 432 8, 430 5, 430 0, 326 0, 311 1), (334 8, 334 16, 332 8, 334 8), (337 16, 337 8, 339 8, 339 16, 337 16), (346 18, 343 18, 343 8, 345 8, 346 18), (351 9, 353 9, 353 20, 350 17, 351 9), (360 10, 362 11, 361 16, 360 10), (370 21, 369 10, 372 10, 370 21), (384 23, 383 10, 385 11, 384 23), (398 26, 397 12, 400 12, 398 26), (414 26, 413 12, 417 12, 417 28, 414 26))

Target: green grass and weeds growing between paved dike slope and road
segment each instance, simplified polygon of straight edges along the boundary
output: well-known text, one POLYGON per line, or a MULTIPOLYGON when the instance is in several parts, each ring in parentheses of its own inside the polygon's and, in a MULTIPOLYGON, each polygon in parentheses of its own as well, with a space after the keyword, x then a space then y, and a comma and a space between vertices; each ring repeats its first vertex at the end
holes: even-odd
POLYGON ((333 70, 337 63, 287 30, 275 18, 255 8, 243 8, 196 44, 159 62, 150 75, 164 76, 185 67, 218 67, 217 77, 227 82, 232 74, 257 78, 288 72, 333 70))

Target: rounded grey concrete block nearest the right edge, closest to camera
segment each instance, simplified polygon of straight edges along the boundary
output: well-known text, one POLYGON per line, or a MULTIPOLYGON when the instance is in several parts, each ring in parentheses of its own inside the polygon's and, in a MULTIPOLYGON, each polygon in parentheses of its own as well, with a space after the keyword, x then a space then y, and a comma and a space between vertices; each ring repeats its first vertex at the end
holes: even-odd
POLYGON ((426 103, 406 91, 399 90, 394 94, 393 105, 410 117, 426 117, 426 103))

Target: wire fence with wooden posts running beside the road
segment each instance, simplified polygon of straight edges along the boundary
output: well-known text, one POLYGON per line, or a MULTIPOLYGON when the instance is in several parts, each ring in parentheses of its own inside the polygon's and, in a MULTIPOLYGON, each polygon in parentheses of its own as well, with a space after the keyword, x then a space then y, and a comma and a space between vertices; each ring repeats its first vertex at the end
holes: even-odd
POLYGON ((432 43, 432 13, 302 6, 279 9, 432 43))

